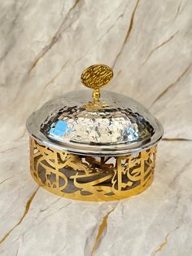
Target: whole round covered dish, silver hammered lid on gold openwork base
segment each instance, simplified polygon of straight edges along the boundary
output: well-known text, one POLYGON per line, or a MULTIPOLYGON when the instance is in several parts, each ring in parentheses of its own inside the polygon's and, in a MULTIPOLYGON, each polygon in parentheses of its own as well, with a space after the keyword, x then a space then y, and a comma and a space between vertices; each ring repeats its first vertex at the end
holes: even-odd
POLYGON ((93 95, 72 91, 28 117, 30 170, 46 190, 76 200, 111 201, 151 185, 163 127, 135 100, 107 90, 100 95, 112 77, 107 65, 90 66, 81 82, 93 95))

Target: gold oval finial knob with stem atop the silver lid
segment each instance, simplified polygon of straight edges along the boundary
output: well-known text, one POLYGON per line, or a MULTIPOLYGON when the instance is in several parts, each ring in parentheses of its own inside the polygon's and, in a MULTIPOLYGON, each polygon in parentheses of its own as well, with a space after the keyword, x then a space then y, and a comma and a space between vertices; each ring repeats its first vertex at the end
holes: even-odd
POLYGON ((112 77, 112 68, 108 67, 107 65, 96 64, 85 69, 85 71, 81 74, 81 82, 85 86, 94 89, 94 101, 99 101, 99 88, 106 86, 107 83, 111 81, 112 77))

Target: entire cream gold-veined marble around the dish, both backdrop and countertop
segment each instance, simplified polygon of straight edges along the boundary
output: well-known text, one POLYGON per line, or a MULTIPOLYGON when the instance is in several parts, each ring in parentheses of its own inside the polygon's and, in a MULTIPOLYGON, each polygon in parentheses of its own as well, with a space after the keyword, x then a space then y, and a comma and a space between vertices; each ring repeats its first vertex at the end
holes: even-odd
POLYGON ((0 1, 0 255, 192 254, 191 12, 190 0, 0 1), (26 118, 95 63, 164 125, 155 182, 124 201, 65 200, 29 174, 26 118))

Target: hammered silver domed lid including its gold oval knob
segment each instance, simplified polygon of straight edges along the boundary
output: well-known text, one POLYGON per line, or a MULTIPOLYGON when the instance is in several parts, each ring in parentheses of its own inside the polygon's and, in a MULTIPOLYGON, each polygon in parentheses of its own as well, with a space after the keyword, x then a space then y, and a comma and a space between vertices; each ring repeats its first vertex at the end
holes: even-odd
POLYGON ((163 127, 141 104, 99 88, 111 81, 111 68, 85 69, 81 82, 94 89, 70 92, 51 99, 28 117, 27 129, 40 143, 81 155, 123 155, 150 148, 163 127))

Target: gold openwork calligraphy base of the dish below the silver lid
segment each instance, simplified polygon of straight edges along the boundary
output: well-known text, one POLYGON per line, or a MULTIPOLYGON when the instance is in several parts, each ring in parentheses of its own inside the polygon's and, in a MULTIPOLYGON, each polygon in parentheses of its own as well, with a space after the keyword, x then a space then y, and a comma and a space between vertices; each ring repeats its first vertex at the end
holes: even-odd
POLYGON ((151 185, 156 146, 120 157, 89 157, 53 150, 30 139, 31 173, 46 190, 83 201, 137 195, 151 185))

